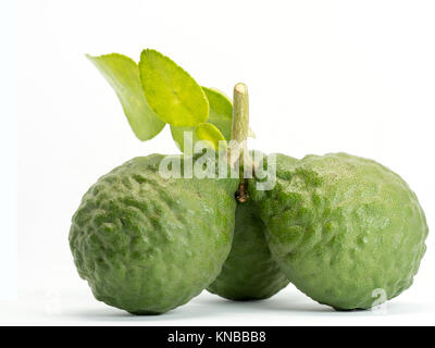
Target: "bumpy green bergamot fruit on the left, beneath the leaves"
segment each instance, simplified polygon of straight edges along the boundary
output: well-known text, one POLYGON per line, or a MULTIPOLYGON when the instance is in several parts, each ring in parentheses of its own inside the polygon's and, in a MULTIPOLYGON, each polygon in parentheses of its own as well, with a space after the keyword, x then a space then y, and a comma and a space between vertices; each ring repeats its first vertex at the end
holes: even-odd
POLYGON ((95 297, 134 314, 186 303, 231 250, 236 179, 163 178, 161 154, 102 176, 72 219, 70 246, 95 297))

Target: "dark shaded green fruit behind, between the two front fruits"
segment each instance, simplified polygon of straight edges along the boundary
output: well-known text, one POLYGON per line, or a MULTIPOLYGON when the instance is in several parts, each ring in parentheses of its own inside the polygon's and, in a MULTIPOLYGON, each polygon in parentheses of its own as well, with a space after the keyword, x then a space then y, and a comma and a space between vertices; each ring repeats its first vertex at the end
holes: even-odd
POLYGON ((231 300, 265 299, 287 286, 288 279, 273 260, 264 223, 251 201, 238 203, 233 247, 210 293, 231 300))

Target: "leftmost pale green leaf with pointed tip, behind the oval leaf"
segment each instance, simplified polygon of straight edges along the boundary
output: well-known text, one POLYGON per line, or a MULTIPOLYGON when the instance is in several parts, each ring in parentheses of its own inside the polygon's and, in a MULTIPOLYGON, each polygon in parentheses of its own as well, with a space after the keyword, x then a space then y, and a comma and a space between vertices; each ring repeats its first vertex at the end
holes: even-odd
POLYGON ((113 53, 100 57, 87 55, 112 86, 121 101, 128 123, 140 140, 157 136, 164 127, 148 105, 139 79, 139 69, 128 57, 113 53))

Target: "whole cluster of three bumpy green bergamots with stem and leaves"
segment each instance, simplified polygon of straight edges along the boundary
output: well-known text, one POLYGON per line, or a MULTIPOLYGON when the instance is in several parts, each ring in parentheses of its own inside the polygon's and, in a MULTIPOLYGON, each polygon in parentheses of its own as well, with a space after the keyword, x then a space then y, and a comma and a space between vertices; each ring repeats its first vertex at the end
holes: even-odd
MULTIPOLYGON (((235 86, 232 104, 156 50, 144 50, 139 64, 121 54, 89 59, 140 140, 167 123, 184 153, 196 152, 200 140, 215 150, 223 142, 246 169, 245 140, 252 135, 246 85, 235 86)), ((374 161, 345 153, 301 161, 278 156, 272 190, 258 187, 261 175, 240 177, 252 200, 236 213, 238 179, 167 179, 158 174, 161 160, 137 158, 104 175, 73 216, 78 272, 111 306, 161 313, 217 275, 209 287, 215 294, 265 298, 287 284, 278 268, 308 296, 336 309, 369 308, 378 303, 373 296, 389 299, 412 283, 425 250, 424 213, 408 185, 374 161), (235 243, 220 273, 235 213, 235 243)))

